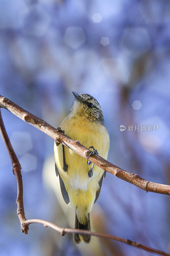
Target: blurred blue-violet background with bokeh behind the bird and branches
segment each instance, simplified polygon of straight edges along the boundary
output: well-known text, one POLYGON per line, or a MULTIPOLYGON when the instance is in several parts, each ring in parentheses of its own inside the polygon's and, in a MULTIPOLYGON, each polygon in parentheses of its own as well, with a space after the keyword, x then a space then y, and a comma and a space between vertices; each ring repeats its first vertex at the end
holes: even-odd
MULTIPOLYGON (((146 180, 170 184, 170 1, 0 0, 0 94, 58 127, 72 91, 103 109, 108 160, 146 180), (120 125, 126 130, 121 132, 120 125), (159 125, 158 131, 128 131, 159 125)), ((2 109, 22 166, 26 218, 74 227, 54 169, 54 140, 2 109)), ((89 145, 90 146, 90 145, 89 145)), ((16 179, 0 138, 1 256, 146 256, 126 244, 92 237, 76 245, 32 224, 22 234, 16 179)), ((92 231, 170 253, 169 197, 107 173, 91 214, 92 231)))

